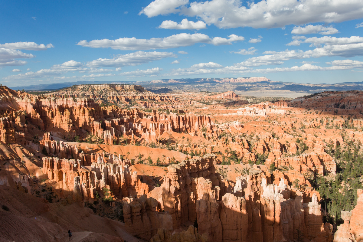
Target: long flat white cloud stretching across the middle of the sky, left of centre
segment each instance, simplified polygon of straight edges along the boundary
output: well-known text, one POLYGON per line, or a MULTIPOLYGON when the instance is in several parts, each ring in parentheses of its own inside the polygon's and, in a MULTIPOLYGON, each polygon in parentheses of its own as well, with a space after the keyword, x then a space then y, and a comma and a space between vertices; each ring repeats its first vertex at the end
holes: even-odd
POLYGON ((151 39, 137 39, 132 38, 119 38, 117 40, 91 40, 79 41, 77 45, 91 47, 91 48, 112 48, 117 50, 149 50, 149 49, 168 49, 178 48, 182 46, 191 46, 196 43, 207 43, 213 45, 231 45, 234 41, 243 41, 244 37, 231 34, 229 38, 214 37, 211 39, 209 36, 201 33, 195 34, 173 34, 165 38, 151 38, 151 39))

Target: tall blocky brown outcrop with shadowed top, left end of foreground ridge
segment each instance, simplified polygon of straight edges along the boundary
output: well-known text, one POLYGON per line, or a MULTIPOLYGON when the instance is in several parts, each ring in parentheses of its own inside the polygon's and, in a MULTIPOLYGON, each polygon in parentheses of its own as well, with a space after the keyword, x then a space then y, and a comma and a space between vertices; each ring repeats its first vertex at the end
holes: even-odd
POLYGON ((174 229, 197 219, 200 233, 208 233, 211 241, 221 241, 217 202, 220 187, 214 158, 207 154, 170 165, 161 187, 163 209, 172 216, 174 229))

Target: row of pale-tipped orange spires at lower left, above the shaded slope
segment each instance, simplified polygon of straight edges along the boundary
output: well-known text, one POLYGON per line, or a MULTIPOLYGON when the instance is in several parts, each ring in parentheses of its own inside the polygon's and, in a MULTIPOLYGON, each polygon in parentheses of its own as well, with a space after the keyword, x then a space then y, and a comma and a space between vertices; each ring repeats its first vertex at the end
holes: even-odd
POLYGON ((105 163, 102 156, 98 156, 89 170, 82 167, 79 159, 43 157, 42 171, 50 181, 57 182, 55 186, 63 191, 61 197, 73 197, 77 201, 79 196, 74 195, 75 193, 82 194, 83 201, 95 198, 96 192, 102 194, 103 188, 110 189, 115 197, 148 193, 148 185, 141 182, 136 172, 129 171, 129 161, 125 164, 125 161, 119 161, 115 157, 110 161, 117 163, 105 163))

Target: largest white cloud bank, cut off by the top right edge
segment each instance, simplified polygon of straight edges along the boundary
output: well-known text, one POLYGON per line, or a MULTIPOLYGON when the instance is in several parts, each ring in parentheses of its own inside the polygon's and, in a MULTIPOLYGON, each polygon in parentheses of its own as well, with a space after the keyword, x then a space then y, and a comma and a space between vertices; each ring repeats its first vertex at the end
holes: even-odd
POLYGON ((342 22, 363 16, 361 0, 263 0, 243 4, 242 0, 155 0, 139 14, 148 17, 179 13, 199 17, 219 28, 282 28, 315 22, 342 22))

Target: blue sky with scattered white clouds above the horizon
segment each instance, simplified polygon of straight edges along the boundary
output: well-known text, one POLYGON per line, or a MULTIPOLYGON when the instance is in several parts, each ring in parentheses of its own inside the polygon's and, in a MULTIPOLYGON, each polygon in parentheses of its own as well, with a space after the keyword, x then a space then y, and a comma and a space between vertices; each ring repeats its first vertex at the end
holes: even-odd
POLYGON ((0 82, 363 81, 361 0, 1 1, 0 82))

